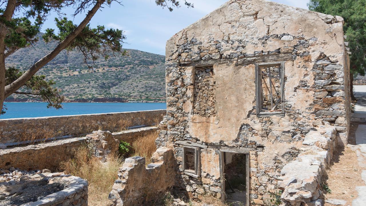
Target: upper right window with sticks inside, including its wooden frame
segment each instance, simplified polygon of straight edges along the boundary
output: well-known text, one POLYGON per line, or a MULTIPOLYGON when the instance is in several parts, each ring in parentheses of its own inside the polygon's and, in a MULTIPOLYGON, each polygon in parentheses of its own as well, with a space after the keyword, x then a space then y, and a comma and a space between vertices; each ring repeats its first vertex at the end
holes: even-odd
POLYGON ((284 62, 256 65, 257 114, 284 114, 284 62))

